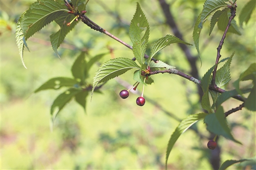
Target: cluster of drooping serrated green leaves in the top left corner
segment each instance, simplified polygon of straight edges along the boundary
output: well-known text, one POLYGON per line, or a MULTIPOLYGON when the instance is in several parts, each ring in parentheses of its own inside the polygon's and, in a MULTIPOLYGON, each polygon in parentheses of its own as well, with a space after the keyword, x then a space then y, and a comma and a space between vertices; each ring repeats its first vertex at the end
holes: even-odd
POLYGON ((51 22, 55 22, 60 26, 57 32, 50 35, 52 48, 58 57, 60 57, 57 49, 64 41, 66 34, 77 24, 77 22, 71 24, 70 21, 77 18, 74 17, 74 14, 79 14, 79 10, 85 9, 84 0, 72 0, 72 2, 73 4, 70 3, 72 5, 71 8, 67 9, 67 4, 69 4, 67 1, 64 3, 63 0, 37 0, 20 16, 16 24, 15 37, 25 68, 23 51, 25 46, 28 48, 27 39, 51 22))

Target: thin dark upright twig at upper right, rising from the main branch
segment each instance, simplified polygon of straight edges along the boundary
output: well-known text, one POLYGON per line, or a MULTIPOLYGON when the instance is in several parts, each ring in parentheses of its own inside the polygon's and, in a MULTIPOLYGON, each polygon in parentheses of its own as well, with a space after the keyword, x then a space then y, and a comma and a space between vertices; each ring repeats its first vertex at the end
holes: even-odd
POLYGON ((222 39, 220 41, 220 44, 219 44, 219 46, 217 48, 217 57, 216 57, 216 62, 215 62, 216 66, 215 66, 215 68, 213 70, 213 78, 212 78, 212 82, 211 82, 212 85, 214 85, 214 86, 217 86, 216 82, 215 82, 215 78, 216 78, 216 72, 217 72, 218 63, 219 63, 220 58, 222 57, 221 49, 222 49, 222 46, 224 44, 224 39, 226 37, 226 33, 227 33, 228 28, 231 26, 231 21, 234 19, 235 13, 236 13, 236 7, 232 7, 232 6, 229 6, 229 7, 230 7, 230 10, 231 10, 230 11, 231 16, 229 17, 228 24, 227 24, 227 26, 225 28, 224 34, 223 34, 222 39))

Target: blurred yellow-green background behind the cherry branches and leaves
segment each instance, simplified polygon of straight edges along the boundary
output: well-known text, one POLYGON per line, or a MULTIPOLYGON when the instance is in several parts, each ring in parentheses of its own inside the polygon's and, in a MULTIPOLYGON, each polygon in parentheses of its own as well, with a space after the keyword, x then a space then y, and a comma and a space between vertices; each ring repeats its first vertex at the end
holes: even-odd
MULTIPOLYGON (((59 49, 61 59, 50 46, 49 35, 58 31, 51 23, 28 39, 30 52, 25 49, 24 60, 28 69, 22 66, 15 42, 15 24, 22 12, 33 0, 0 1, 0 132, 2 170, 14 169, 164 169, 165 152, 170 135, 179 119, 201 112, 196 85, 176 75, 152 76, 155 83, 145 87, 146 104, 138 107, 135 100, 139 94, 130 94, 123 100, 119 92, 123 85, 132 85, 132 71, 113 79, 104 85, 102 93, 90 95, 86 113, 82 107, 71 101, 54 124, 51 123, 50 107, 63 91, 46 90, 33 94, 33 90, 50 78, 71 77, 71 65, 79 51, 88 51, 88 56, 108 53, 97 64, 111 57, 130 57, 132 51, 110 37, 79 23, 65 38, 59 49)), ((173 34, 164 24, 165 19, 158 1, 139 1, 150 24, 152 44, 158 38, 173 34)), ((184 40, 193 44, 192 29, 196 17, 202 10, 203 1, 168 1, 184 40)), ((238 0, 237 15, 245 4, 238 0)), ((87 16, 102 28, 131 45, 128 37, 129 22, 136 9, 136 1, 94 1, 87 5, 87 16)), ((235 18, 236 20, 238 17, 235 18)), ((232 89, 241 72, 256 61, 256 13, 247 25, 240 28, 241 36, 227 34, 222 57, 235 55, 231 63, 232 80, 227 89, 232 89)), ((216 26, 217 27, 217 26, 216 26)), ((216 48, 222 32, 214 28, 208 36, 209 21, 200 36, 202 66, 197 61, 200 76, 215 63, 216 48)), ((194 46, 190 47, 196 55, 194 46)), ((158 54, 161 59, 177 69, 188 73, 190 66, 184 53, 176 44, 158 54)), ((97 70, 91 70, 91 82, 97 70)), ((244 86, 246 86, 246 82, 244 86)), ((142 87, 138 87, 141 91, 142 87)), ((225 111, 241 103, 230 99, 224 104, 225 111)), ((220 138, 221 163, 226 159, 243 159, 255 156, 256 116, 246 109, 227 117, 235 138, 243 145, 220 138)), ((202 121, 197 123, 198 131, 209 136, 202 121)), ((187 131, 175 144, 168 160, 168 169, 211 169, 206 146, 208 140, 200 139, 194 131, 187 131)), ((230 169, 239 169, 231 167, 230 169)))

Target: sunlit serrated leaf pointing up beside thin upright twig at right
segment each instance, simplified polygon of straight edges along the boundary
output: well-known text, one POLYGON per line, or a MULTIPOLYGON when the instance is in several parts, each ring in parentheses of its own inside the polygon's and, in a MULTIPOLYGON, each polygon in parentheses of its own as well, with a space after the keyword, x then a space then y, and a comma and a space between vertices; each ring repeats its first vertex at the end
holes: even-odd
POLYGON ((234 54, 235 54, 235 52, 233 52, 233 54, 229 57, 229 59, 224 64, 224 66, 222 66, 216 72, 216 85, 222 89, 225 89, 225 87, 228 85, 229 81, 231 80, 230 64, 231 64, 232 57, 234 56, 234 54))

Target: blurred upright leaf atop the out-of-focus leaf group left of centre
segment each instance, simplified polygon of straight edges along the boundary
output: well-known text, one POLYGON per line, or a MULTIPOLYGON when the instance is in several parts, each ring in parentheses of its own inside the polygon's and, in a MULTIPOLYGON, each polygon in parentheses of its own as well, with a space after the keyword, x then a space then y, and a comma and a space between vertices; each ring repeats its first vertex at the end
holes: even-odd
POLYGON ((84 69, 86 66, 85 61, 85 52, 81 52, 81 54, 76 58, 75 62, 72 65, 71 72, 77 82, 81 82, 82 85, 85 84, 85 75, 84 69))

